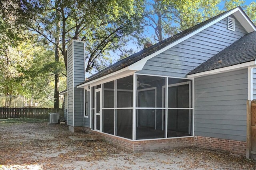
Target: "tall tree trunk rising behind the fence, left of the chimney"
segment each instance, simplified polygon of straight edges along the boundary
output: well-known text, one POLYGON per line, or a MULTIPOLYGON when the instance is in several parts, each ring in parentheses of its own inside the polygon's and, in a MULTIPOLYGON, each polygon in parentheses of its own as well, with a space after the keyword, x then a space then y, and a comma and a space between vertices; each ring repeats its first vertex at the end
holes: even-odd
MULTIPOLYGON (((60 45, 60 13, 58 11, 58 0, 55 0, 55 14, 56 14, 56 45, 55 45, 55 61, 59 62, 59 45, 60 45)), ((59 96, 59 87, 60 87, 60 77, 59 73, 56 72, 54 76, 54 109, 60 107, 60 96, 59 96)))

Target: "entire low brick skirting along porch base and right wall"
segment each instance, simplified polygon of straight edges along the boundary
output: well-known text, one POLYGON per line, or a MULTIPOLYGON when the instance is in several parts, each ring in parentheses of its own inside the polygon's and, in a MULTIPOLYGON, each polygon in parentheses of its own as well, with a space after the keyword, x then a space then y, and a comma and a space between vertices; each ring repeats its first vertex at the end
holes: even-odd
MULTIPOLYGON (((84 127, 83 127, 84 128, 84 127)), ((102 140, 117 145, 131 151, 140 150, 159 150, 159 149, 172 149, 181 147, 199 147, 205 149, 221 150, 232 152, 242 156, 246 156, 246 142, 234 141, 228 139, 218 139, 212 137, 184 137, 175 139, 155 139, 146 141, 130 141, 121 137, 108 135, 96 131, 91 131, 90 128, 84 128, 84 131, 92 132, 102 136, 102 140)))

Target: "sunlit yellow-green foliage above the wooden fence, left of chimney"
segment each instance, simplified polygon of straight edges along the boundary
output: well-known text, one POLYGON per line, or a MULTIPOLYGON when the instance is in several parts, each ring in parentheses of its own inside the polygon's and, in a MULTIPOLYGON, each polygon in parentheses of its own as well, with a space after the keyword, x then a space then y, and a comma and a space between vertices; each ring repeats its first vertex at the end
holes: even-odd
MULTIPOLYGON (((11 26, 0 21, 3 37, 0 39, 0 95, 21 95, 41 107, 53 107, 53 75, 56 72, 61 76, 65 74, 64 62, 55 62, 54 53, 37 43, 36 35, 28 31, 18 32, 15 27, 8 31, 11 26)), ((66 77, 61 81, 61 90, 64 90, 66 77)))

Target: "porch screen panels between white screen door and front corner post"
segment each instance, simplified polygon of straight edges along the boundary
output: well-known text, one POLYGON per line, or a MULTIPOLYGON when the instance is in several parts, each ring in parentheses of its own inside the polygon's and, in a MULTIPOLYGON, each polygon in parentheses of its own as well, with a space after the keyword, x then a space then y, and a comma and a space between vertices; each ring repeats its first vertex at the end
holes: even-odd
POLYGON ((102 132, 132 139, 133 76, 102 84, 102 132))

